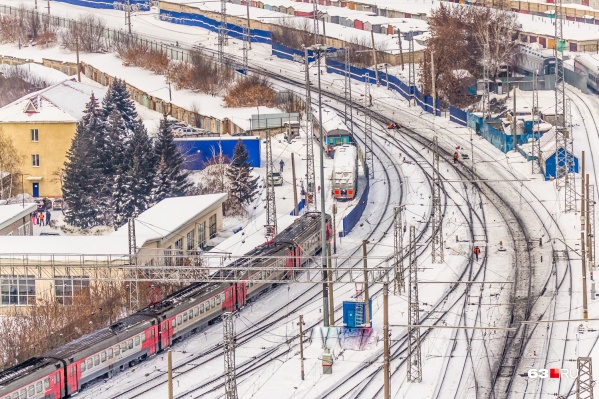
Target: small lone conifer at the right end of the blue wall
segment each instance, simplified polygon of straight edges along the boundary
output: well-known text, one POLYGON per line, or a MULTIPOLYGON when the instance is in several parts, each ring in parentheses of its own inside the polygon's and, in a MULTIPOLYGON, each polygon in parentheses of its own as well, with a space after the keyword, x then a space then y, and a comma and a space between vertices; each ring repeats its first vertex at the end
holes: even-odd
POLYGON ((249 154, 239 140, 233 150, 233 161, 227 170, 229 197, 241 205, 251 203, 258 193, 258 177, 252 177, 249 154))

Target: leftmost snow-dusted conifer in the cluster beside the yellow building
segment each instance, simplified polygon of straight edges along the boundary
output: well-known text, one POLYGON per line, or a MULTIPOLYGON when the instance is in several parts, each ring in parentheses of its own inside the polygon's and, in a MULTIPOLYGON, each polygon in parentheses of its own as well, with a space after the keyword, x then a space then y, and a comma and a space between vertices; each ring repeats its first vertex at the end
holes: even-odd
POLYGON ((102 110, 92 93, 83 118, 77 124, 75 137, 65 162, 63 198, 67 203, 65 220, 81 228, 102 224, 99 213, 97 186, 101 180, 96 135, 104 127, 102 110))

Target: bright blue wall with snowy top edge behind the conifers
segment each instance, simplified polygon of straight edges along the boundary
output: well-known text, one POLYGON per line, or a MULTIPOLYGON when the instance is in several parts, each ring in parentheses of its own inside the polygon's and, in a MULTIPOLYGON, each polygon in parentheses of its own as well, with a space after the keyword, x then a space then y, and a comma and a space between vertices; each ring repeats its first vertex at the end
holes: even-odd
POLYGON ((260 137, 185 137, 176 138, 175 144, 183 155, 183 169, 202 170, 214 155, 222 154, 233 158, 233 150, 240 141, 245 145, 249 154, 250 165, 254 168, 260 167, 260 137))

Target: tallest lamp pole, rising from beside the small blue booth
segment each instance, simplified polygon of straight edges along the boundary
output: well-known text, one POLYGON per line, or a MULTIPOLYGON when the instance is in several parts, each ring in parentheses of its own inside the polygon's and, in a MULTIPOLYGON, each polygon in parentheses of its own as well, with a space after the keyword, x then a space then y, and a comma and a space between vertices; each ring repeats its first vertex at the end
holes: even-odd
POLYGON ((319 141, 320 141, 320 248, 322 254, 322 302, 323 302, 323 319, 324 326, 329 327, 329 287, 327 284, 328 273, 327 273, 327 237, 326 237, 326 211, 324 204, 324 142, 322 132, 322 90, 320 86, 320 55, 322 52, 327 51, 327 46, 322 44, 315 44, 310 46, 310 49, 316 53, 318 57, 318 130, 319 130, 319 141))

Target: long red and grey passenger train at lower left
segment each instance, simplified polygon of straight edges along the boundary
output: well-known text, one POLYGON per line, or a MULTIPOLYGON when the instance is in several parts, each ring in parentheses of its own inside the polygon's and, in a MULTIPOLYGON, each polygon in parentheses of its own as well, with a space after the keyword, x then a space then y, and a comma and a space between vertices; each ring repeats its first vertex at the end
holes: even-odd
MULTIPOLYGON (((326 216, 327 240, 332 234, 326 216)), ((109 327, 84 335, 41 357, 0 372, 0 399, 59 399, 73 395, 99 378, 110 378, 170 347, 173 342, 214 322, 224 312, 240 309, 284 278, 286 267, 301 266, 321 250, 320 214, 306 213, 273 240, 254 248, 218 273, 231 275, 239 266, 264 271, 240 275, 236 283, 195 283, 109 327), (256 257, 264 256, 259 264, 256 257), (270 258, 274 257, 274 258, 270 258), (280 257, 280 258, 277 258, 280 257), (282 266, 268 271, 269 267, 282 266), (244 281, 248 280, 248 281, 244 281)), ((259 259, 259 258, 258 258, 259 259)))

